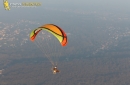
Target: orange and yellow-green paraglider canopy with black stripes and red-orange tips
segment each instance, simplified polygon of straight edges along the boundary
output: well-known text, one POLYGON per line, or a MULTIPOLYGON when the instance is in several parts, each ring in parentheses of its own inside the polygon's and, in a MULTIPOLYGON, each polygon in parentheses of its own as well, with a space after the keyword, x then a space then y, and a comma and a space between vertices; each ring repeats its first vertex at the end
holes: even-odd
POLYGON ((41 27, 36 28, 35 30, 33 30, 30 34, 30 40, 34 41, 37 34, 41 31, 41 30, 46 30, 48 32, 50 32, 51 34, 53 34, 61 43, 62 46, 66 46, 67 45, 67 36, 65 34, 65 32, 58 27, 57 25, 54 24, 45 24, 41 27))

